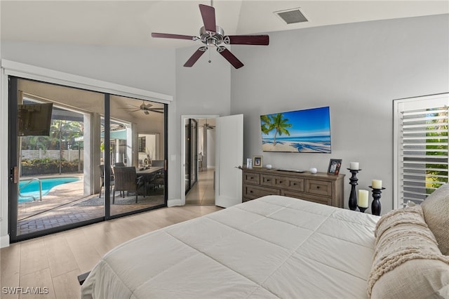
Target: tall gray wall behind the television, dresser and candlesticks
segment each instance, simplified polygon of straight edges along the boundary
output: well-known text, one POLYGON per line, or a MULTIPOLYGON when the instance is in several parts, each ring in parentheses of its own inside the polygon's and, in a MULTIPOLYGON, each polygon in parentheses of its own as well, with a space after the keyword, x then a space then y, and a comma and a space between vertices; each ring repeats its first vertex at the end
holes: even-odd
MULTIPOLYGON (((358 189, 380 179, 382 213, 393 206, 392 101, 449 91, 449 15, 272 32, 268 47, 235 46, 232 114, 243 113, 244 157, 274 167, 326 172, 343 159, 345 206, 350 161, 358 189), (262 152, 260 114, 330 106, 332 154, 262 152)), ((370 208, 367 213, 370 213, 370 208)))

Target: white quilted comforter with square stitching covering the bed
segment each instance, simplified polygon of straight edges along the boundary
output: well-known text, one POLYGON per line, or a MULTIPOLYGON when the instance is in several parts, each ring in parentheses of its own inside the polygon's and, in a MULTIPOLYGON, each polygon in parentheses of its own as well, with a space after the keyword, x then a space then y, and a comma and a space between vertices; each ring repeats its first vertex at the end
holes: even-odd
POLYGON ((247 201, 114 248, 82 298, 366 298, 378 219, 289 197, 247 201))

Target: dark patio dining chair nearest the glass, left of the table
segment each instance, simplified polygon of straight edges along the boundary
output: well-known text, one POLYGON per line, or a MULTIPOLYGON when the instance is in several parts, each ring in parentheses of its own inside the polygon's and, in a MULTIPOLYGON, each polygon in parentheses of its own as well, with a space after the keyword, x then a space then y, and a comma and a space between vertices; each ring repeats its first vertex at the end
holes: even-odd
POLYGON ((112 192, 112 204, 115 203, 115 192, 123 191, 123 197, 125 192, 135 192, 135 203, 138 203, 138 189, 144 187, 144 197, 146 193, 145 180, 142 177, 138 177, 135 172, 135 167, 114 167, 114 192, 112 192))

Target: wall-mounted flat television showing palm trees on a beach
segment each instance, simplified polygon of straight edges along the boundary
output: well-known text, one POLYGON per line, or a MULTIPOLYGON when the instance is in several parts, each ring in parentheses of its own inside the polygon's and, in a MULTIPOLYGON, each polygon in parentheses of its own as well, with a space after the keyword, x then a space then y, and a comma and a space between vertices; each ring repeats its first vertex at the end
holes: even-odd
POLYGON ((264 152, 330 153, 329 107, 260 116, 264 152))

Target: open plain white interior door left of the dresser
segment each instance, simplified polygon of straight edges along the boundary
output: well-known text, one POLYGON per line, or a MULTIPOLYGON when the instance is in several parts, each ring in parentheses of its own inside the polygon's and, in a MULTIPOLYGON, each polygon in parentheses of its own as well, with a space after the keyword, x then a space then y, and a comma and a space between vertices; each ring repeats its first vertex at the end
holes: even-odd
POLYGON ((215 205, 227 208, 241 203, 243 114, 217 117, 215 205))

